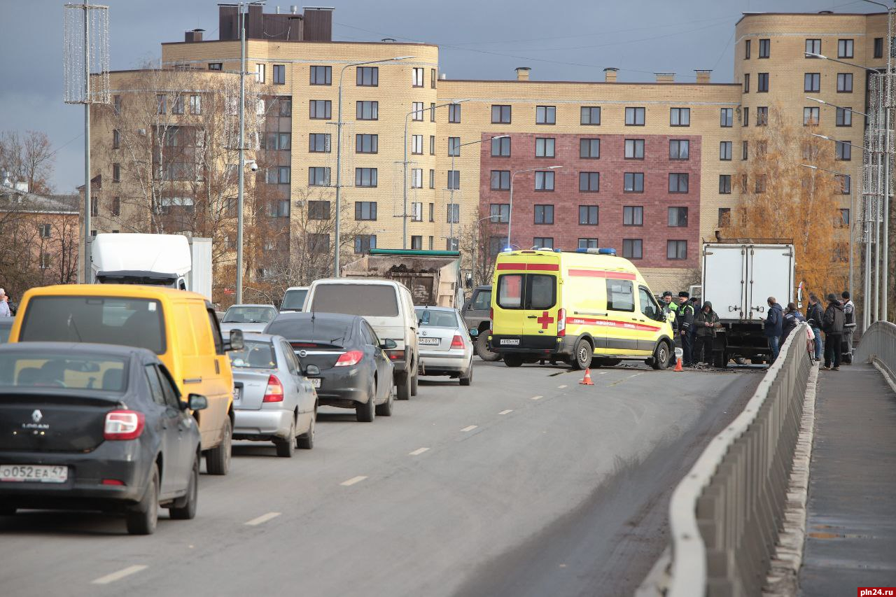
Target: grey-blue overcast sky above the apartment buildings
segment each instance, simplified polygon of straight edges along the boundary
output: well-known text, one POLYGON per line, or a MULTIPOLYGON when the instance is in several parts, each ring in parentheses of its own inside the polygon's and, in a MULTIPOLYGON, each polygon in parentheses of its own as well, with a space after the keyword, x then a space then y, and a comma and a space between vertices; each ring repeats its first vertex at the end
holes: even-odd
MULTIPOLYGON (((291 0, 298 3, 297 0, 291 0)), ((46 132, 56 153, 60 193, 83 183, 83 108, 63 103, 61 0, 4 4, 0 34, 0 131, 46 132)), ((211 0, 104 0, 109 5, 113 69, 158 58, 162 41, 206 30, 218 39, 211 0)), ((265 12, 273 12, 269 0, 265 12)), ((862 0, 327 0, 335 7, 333 39, 426 41, 441 46, 452 79, 511 79, 530 66, 540 80, 601 81, 605 66, 621 81, 651 81, 655 71, 678 80, 695 68, 730 82, 734 24, 744 12, 867 13, 862 0)), ((280 4, 289 11, 289 2, 280 4)), ((299 9, 301 10, 301 8, 299 9)))

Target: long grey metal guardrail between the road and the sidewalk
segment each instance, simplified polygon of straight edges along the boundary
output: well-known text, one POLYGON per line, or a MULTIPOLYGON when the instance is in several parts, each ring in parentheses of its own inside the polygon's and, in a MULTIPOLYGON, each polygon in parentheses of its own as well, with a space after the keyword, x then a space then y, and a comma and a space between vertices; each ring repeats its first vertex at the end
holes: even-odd
POLYGON ((672 493, 669 597, 762 593, 784 518, 811 368, 806 324, 800 324, 744 411, 712 439, 672 493))

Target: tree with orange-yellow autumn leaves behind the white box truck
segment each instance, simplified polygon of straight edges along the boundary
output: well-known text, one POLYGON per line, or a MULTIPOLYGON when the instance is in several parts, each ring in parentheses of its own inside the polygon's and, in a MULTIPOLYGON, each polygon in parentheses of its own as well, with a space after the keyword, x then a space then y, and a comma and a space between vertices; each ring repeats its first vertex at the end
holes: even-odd
MULTIPOLYGON (((839 294, 846 288, 849 262, 849 227, 840 209, 854 181, 826 171, 844 168, 835 160, 835 143, 812 136, 813 122, 795 125, 778 107, 769 108, 765 118, 745 129, 753 135, 746 140, 748 160, 738 172, 740 203, 724 233, 793 239, 797 281, 819 296, 839 294)), ((851 150, 840 146, 840 151, 851 150)))

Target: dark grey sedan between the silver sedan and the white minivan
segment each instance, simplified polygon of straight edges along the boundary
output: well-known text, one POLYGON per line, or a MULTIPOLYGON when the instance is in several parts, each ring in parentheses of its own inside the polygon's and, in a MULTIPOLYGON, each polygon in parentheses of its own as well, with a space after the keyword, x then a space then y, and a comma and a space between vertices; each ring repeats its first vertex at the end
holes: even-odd
POLYGON ((394 365, 364 317, 336 313, 280 313, 264 333, 283 336, 296 352, 318 403, 355 409, 359 421, 392 415, 394 365))

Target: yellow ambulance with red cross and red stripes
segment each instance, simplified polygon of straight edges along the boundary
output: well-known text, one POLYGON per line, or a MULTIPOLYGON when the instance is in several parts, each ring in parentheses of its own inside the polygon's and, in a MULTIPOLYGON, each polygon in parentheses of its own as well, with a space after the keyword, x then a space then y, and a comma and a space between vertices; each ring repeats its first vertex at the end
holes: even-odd
POLYGON ((632 262, 614 249, 506 251, 492 291, 492 350, 507 367, 565 360, 574 368, 674 358, 671 324, 632 262))

